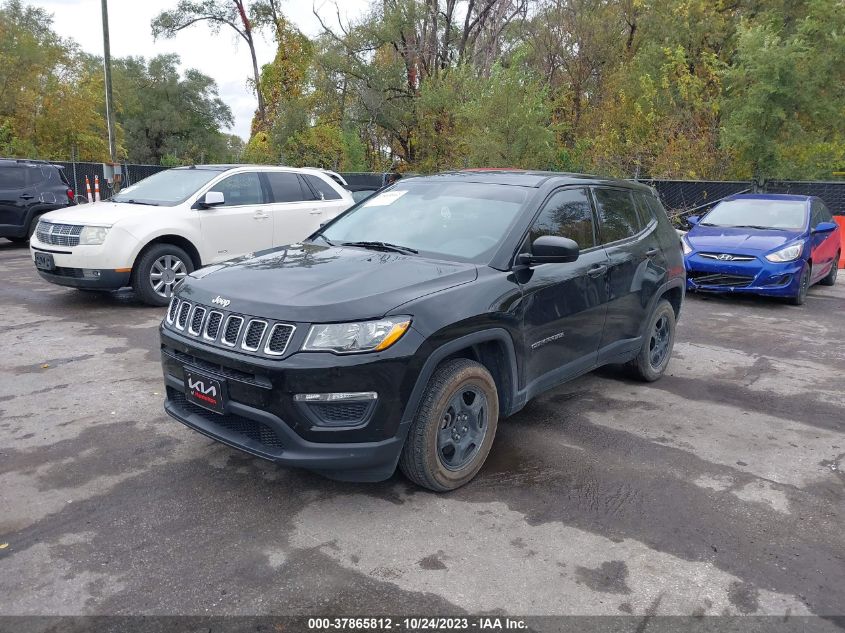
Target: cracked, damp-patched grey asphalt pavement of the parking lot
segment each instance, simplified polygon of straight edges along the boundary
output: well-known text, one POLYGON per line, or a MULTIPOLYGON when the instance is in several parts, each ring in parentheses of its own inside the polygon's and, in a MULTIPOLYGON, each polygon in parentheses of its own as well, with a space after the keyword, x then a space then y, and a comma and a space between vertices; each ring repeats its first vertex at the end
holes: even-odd
POLYGON ((0 615, 845 613, 845 279, 688 297, 662 380, 538 398, 449 494, 171 420, 163 313, 0 240, 0 615))

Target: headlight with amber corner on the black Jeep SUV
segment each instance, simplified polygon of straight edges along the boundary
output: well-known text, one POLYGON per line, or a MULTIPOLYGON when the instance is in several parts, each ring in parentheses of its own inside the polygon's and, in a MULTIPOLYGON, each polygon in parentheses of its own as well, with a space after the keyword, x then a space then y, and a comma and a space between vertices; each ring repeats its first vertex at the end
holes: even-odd
POLYGON ((411 317, 397 316, 361 323, 312 325, 302 347, 307 352, 380 352, 393 345, 411 325, 411 317))

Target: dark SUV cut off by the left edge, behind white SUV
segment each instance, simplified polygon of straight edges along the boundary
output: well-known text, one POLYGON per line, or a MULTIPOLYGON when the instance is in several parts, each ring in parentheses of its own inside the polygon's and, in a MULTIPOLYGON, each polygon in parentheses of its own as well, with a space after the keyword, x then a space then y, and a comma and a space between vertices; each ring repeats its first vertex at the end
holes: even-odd
POLYGON ((26 242, 39 215, 72 204, 73 189, 60 166, 0 158, 0 237, 26 242))

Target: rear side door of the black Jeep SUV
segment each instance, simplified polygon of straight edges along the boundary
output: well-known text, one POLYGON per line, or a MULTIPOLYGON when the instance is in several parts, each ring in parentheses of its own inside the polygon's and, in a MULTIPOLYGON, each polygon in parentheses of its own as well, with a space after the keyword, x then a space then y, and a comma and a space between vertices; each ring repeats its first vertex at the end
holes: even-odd
POLYGON ((608 256, 607 319, 599 361, 612 361, 639 346, 651 298, 666 276, 657 220, 639 194, 615 187, 593 188, 600 241, 608 256))

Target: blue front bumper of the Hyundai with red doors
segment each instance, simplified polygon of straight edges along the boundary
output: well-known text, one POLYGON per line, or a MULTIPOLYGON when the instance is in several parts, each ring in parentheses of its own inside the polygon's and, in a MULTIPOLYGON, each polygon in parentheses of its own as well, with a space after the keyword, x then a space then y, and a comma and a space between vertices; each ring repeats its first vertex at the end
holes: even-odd
POLYGON ((775 263, 759 257, 751 261, 721 262, 692 253, 684 258, 687 290, 699 292, 752 293, 792 297, 798 293, 802 259, 775 263))

